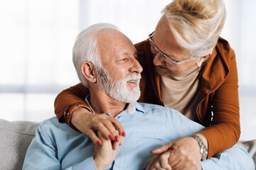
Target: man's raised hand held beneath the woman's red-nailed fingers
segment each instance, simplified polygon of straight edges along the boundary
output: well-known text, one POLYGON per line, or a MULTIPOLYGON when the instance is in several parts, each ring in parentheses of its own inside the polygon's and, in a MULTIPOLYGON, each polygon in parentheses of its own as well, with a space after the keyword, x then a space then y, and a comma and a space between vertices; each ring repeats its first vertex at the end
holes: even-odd
POLYGON ((93 159, 97 169, 107 169, 112 162, 114 162, 115 157, 117 156, 117 147, 119 142, 112 141, 110 139, 105 139, 102 136, 101 132, 97 132, 97 135, 100 137, 102 141, 102 146, 95 145, 93 150, 93 159), (114 146, 114 149, 112 147, 114 146))

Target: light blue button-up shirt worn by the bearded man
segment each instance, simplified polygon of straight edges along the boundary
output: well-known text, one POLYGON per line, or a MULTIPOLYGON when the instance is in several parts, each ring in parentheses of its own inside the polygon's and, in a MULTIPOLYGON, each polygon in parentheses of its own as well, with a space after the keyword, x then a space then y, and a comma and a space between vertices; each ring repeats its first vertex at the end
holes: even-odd
MULTIPOLYGON (((109 169, 145 169, 154 157, 149 153, 151 149, 204 129, 172 108, 147 103, 130 103, 115 118, 124 127, 127 137, 118 147, 117 157, 109 169)), ((87 135, 73 130, 66 123, 58 123, 57 118, 50 118, 38 125, 23 169, 97 169, 92 157, 93 147, 87 135)), ((221 154, 218 158, 201 162, 201 166, 203 169, 233 169, 230 167, 234 166, 235 169, 254 169, 252 158, 245 149, 235 146, 229 150, 223 153, 224 156, 221 154)))

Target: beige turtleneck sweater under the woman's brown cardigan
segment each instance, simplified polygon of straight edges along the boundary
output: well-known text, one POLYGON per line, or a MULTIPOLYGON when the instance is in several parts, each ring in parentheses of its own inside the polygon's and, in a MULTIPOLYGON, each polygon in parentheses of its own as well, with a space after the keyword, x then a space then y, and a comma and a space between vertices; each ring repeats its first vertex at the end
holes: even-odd
POLYGON ((198 98, 201 86, 198 79, 200 70, 201 67, 194 66, 180 76, 160 78, 164 106, 174 108, 194 121, 197 120, 196 106, 200 102, 198 98))

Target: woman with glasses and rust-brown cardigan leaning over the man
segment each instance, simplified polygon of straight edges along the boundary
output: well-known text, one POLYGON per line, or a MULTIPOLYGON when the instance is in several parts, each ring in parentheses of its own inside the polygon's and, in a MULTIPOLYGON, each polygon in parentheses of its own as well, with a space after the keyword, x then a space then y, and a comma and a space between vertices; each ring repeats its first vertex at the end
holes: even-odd
MULTIPOLYGON (((149 39, 135 45, 144 69, 139 101, 175 108, 207 127, 151 151, 170 151, 169 164, 178 168, 238 142, 238 72, 234 51, 219 37, 226 17, 222 0, 174 0, 163 13, 149 39)), ((87 94, 82 84, 62 91, 55 99, 59 121, 85 132, 98 145, 95 130, 111 140, 125 136, 117 120, 86 109, 87 94)))

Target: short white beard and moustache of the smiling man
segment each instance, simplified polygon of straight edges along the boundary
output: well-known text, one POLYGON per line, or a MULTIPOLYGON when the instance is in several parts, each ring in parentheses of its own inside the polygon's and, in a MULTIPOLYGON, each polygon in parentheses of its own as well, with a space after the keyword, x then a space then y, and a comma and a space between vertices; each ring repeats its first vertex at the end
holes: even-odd
POLYGON ((137 101, 139 99, 139 81, 141 78, 141 74, 132 73, 122 80, 113 81, 110 78, 110 74, 108 74, 105 69, 97 69, 97 84, 100 86, 100 89, 108 96, 124 103, 133 103, 134 101, 137 101), (137 86, 134 87, 132 90, 129 90, 127 88, 127 81, 136 79, 137 86))

